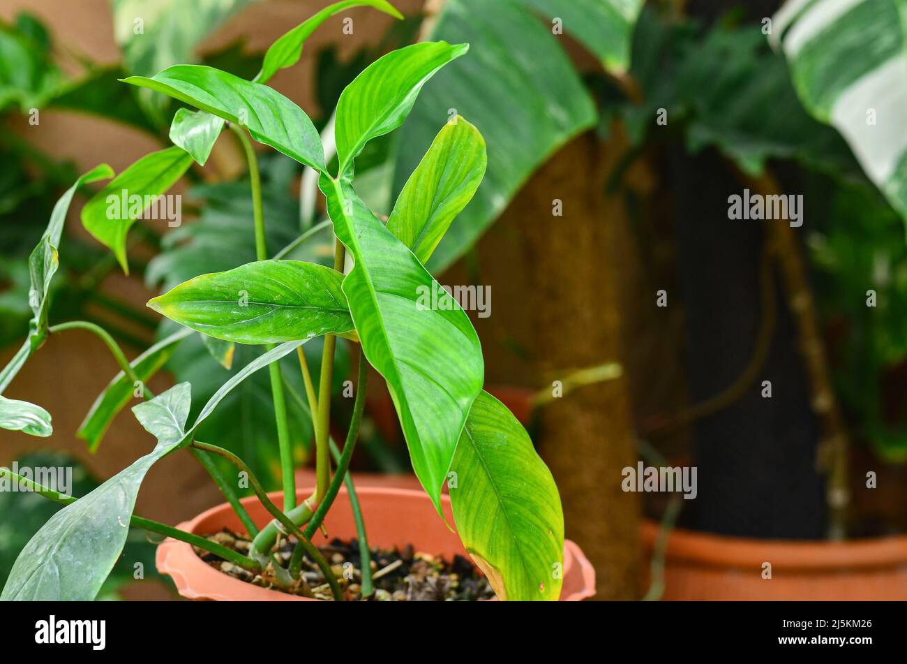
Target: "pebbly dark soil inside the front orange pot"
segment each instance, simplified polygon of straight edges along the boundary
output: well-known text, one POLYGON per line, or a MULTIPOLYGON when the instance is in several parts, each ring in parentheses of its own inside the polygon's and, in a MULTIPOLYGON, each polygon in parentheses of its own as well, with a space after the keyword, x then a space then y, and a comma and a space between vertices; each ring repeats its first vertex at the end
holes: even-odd
MULTIPOLYGON (((236 532, 224 530, 207 539, 236 552, 249 552, 249 539, 236 532)), ((295 541, 279 542, 274 550, 275 558, 287 566, 295 547, 295 541)), ((301 597, 334 599, 324 575, 307 555, 303 556, 299 579, 280 587, 273 563, 268 564, 268 569, 260 574, 254 574, 213 553, 193 548, 211 567, 240 581, 301 597)), ((457 555, 453 561, 448 561, 440 556, 418 552, 412 544, 407 544, 399 551, 371 550, 370 567, 375 591, 366 598, 362 596, 362 561, 356 540, 344 542, 335 538, 318 549, 329 562, 347 601, 476 601, 494 597, 494 591, 482 572, 463 556, 457 555)))

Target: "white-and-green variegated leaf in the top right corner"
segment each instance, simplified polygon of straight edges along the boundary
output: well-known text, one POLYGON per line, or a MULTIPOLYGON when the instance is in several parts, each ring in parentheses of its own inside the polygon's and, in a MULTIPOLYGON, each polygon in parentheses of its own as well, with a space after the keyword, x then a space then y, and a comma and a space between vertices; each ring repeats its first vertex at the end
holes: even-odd
POLYGON ((844 136, 863 171, 907 218, 907 39, 900 0, 797 0, 773 18, 807 111, 844 136))

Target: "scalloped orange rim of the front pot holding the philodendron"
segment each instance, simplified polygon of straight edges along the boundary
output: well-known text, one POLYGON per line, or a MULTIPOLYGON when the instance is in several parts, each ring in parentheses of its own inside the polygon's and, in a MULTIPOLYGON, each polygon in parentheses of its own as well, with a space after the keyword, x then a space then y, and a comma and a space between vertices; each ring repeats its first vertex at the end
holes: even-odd
MULTIPOLYGON (((313 488, 297 489, 297 496, 300 500, 305 499, 313 488)), ((346 488, 341 488, 341 493, 346 493, 346 488)), ((414 491, 412 489, 399 489, 395 487, 375 487, 362 486, 356 488, 356 493, 360 498, 367 495, 384 494, 395 495, 400 498, 418 498, 425 499, 425 493, 414 491)), ((281 499, 282 491, 268 493, 268 498, 272 501, 281 499)), ((450 496, 442 495, 441 501, 449 505, 450 496)), ((247 496, 239 501, 244 506, 252 503, 258 503, 256 496, 247 496)), ((229 503, 220 503, 208 510, 198 514, 186 522, 181 522, 177 527, 180 530, 195 532, 200 522, 203 522, 218 513, 230 512, 232 508, 229 503)), ((237 599, 244 600, 282 600, 282 601, 320 601, 306 597, 289 595, 285 592, 273 591, 268 588, 260 588, 246 581, 234 579, 222 571, 215 570, 209 564, 202 561, 192 550, 187 542, 180 542, 168 538, 158 545, 155 554, 155 564, 161 574, 167 574, 171 577, 177 586, 177 590, 183 597, 193 600, 214 600, 214 601, 234 601, 237 599), (224 588, 228 589, 226 592, 224 588), (229 591, 233 589, 235 592, 229 591), (239 597, 238 597, 239 595, 239 597)), ((582 579, 582 587, 579 591, 571 592, 566 597, 561 597, 561 601, 580 601, 592 597, 595 594, 595 569, 585 554, 580 550, 579 545, 571 540, 564 539, 564 576, 566 577, 571 569, 576 567, 582 579)))

